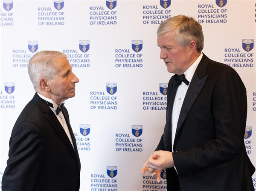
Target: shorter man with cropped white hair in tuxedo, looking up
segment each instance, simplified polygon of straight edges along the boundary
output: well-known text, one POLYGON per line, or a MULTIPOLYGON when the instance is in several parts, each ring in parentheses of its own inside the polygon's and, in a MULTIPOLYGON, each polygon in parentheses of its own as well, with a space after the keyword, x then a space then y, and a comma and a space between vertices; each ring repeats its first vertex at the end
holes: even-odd
POLYGON ((79 79, 58 51, 36 53, 29 77, 36 93, 12 130, 2 191, 79 191, 81 164, 63 105, 79 79))

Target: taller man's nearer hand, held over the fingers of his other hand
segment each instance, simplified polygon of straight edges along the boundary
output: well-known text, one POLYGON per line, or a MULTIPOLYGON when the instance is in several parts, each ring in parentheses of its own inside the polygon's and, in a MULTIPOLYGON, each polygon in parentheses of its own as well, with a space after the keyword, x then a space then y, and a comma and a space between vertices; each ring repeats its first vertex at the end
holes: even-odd
POLYGON ((155 170, 163 170, 166 168, 174 167, 172 152, 154 151, 154 153, 149 157, 145 167, 155 170))

